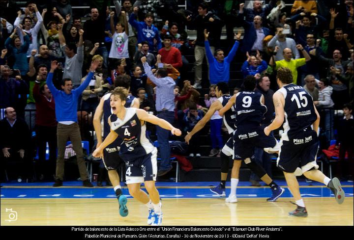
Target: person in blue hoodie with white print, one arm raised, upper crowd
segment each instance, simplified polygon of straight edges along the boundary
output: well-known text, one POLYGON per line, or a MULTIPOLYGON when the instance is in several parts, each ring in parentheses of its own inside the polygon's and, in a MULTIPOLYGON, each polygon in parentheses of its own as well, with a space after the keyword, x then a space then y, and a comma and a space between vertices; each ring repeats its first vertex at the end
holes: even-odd
POLYGON ((153 15, 147 13, 145 15, 144 22, 138 22, 135 20, 138 15, 138 7, 134 7, 133 13, 129 17, 129 23, 135 27, 138 31, 138 43, 147 41, 149 44, 149 52, 157 52, 162 48, 159 30, 152 25, 153 15), (156 47, 154 40, 156 40, 156 47))

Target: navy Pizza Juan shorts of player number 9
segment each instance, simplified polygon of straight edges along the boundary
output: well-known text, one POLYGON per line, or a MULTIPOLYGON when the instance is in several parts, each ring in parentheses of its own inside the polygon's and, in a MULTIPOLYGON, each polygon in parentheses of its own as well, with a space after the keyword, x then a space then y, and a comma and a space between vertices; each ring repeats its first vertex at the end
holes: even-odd
POLYGON ((280 149, 279 142, 273 133, 267 136, 264 133, 264 126, 253 128, 237 127, 234 132, 234 155, 236 160, 253 160, 255 147, 263 148, 267 153, 275 153, 280 149))

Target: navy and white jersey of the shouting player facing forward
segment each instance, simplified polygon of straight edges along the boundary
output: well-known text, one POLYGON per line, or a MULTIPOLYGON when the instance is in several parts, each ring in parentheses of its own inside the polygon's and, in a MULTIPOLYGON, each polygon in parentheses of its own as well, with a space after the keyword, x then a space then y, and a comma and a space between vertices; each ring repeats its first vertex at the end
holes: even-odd
POLYGON ((136 108, 126 108, 124 119, 119 119, 112 114, 111 129, 118 134, 122 140, 119 156, 124 161, 133 161, 143 157, 154 150, 154 146, 146 137, 146 125, 141 125, 136 114, 136 108))

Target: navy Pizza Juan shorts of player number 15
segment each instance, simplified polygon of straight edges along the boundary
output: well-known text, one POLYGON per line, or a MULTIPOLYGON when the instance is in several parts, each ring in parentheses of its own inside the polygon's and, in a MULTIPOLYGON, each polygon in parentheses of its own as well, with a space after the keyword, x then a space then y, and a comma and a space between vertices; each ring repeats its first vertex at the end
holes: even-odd
POLYGON ((300 167, 302 172, 319 168, 316 163, 319 141, 315 131, 308 128, 307 131, 296 133, 295 137, 288 139, 289 141, 284 140, 283 136, 280 139, 281 148, 277 159, 279 169, 293 173, 297 167, 300 167))

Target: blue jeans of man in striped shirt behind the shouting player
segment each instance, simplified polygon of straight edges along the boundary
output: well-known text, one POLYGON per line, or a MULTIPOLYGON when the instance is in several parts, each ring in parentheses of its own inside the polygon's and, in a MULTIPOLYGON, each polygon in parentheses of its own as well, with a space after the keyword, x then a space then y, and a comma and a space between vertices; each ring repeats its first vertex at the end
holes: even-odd
MULTIPOLYGON (((161 111, 157 113, 157 117, 166 120, 167 122, 173 124, 175 120, 175 112, 173 111, 161 111)), ((156 135, 157 141, 160 146, 160 156, 161 156, 161 164, 160 164, 160 171, 168 170, 171 167, 170 157, 170 144, 169 144, 169 137, 171 131, 163 129, 159 126, 156 126, 156 135)))

